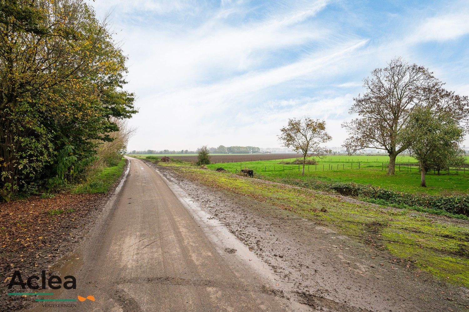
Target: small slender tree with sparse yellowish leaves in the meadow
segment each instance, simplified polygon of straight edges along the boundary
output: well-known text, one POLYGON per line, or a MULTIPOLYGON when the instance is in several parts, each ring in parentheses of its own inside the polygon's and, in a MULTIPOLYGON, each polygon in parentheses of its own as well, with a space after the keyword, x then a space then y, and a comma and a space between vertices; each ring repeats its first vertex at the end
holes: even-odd
POLYGON ((307 157, 316 156, 324 157, 327 152, 331 152, 320 144, 330 141, 332 137, 325 132, 325 122, 313 120, 309 117, 301 119, 289 119, 288 125, 280 129, 282 134, 279 140, 283 146, 291 147, 295 152, 303 154, 303 171, 304 163, 307 157))

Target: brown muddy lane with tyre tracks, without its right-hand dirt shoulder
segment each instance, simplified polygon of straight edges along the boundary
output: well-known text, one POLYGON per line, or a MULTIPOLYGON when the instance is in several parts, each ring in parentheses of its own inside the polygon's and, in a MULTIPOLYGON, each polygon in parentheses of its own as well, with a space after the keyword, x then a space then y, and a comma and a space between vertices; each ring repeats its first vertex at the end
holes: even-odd
POLYGON ((275 281, 257 272, 249 254, 242 259, 209 239, 210 226, 197 221, 155 169, 129 161, 105 220, 57 268, 76 276, 77 289, 56 295, 95 297, 76 301, 79 311, 302 310, 273 295, 275 281))

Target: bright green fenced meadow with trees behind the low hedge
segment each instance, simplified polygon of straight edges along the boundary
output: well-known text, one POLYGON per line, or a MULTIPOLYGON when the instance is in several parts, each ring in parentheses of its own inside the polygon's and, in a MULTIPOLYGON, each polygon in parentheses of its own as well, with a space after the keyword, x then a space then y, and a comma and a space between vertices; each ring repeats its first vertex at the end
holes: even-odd
MULTIPOLYGON (((468 162, 469 162, 469 156, 468 162)), ((315 179, 325 182, 355 182, 371 184, 373 186, 401 192, 424 192, 428 194, 469 193, 469 170, 450 170, 441 175, 429 172, 426 176, 427 188, 420 187, 420 172, 418 167, 396 166, 395 175, 386 175, 387 156, 327 156, 318 159, 318 165, 306 165, 305 175, 301 175, 301 165, 282 165, 280 161, 265 160, 234 163, 211 164, 207 167, 216 169, 223 167, 230 172, 239 172, 241 168, 250 168, 260 178, 279 181, 282 178, 315 179)), ((413 157, 398 156, 396 163, 417 163, 413 157)))

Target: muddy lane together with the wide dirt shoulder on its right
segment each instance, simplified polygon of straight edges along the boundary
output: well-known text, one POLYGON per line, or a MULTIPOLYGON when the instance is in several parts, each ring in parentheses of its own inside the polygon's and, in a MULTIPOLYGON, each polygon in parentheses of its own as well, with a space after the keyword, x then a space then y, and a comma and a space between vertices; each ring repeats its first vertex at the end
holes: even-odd
POLYGON ((50 269, 77 280, 77 289, 54 290, 53 298, 96 298, 66 310, 467 310, 469 289, 333 227, 214 190, 171 167, 129 162, 94 230, 50 269))

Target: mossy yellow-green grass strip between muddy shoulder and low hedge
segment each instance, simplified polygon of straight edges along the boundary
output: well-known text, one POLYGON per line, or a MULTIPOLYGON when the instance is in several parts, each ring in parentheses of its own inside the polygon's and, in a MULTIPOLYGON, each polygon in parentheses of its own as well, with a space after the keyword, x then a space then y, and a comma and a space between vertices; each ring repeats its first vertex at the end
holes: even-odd
POLYGON ((349 203, 314 190, 204 170, 187 162, 160 165, 171 166, 189 179, 216 190, 250 196, 334 227, 374 248, 386 249, 415 268, 416 276, 425 270, 439 279, 469 287, 468 221, 349 203))

